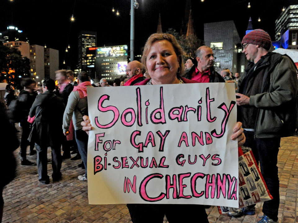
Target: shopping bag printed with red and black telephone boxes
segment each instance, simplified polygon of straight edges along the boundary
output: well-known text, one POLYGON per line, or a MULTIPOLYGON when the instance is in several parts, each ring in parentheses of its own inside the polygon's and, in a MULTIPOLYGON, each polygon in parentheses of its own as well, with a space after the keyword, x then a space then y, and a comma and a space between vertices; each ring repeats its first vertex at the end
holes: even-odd
MULTIPOLYGON (((251 150, 243 154, 241 147, 238 147, 238 170, 239 208, 273 199, 251 150)), ((230 207, 217 207, 220 214, 235 210, 230 207)))

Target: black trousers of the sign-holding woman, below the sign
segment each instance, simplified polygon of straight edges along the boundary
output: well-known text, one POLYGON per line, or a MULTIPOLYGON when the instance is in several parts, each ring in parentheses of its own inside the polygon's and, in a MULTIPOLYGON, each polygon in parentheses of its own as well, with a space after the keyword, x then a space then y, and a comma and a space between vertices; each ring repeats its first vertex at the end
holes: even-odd
POLYGON ((196 204, 127 204, 133 223, 162 223, 164 216, 169 223, 209 223, 203 205, 196 204))

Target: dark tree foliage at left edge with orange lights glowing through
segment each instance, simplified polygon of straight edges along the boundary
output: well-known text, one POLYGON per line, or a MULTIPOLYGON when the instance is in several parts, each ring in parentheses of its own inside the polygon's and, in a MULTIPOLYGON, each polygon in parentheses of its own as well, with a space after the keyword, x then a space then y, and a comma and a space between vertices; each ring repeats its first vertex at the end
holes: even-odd
POLYGON ((30 77, 30 60, 22 57, 20 50, 0 44, 0 81, 18 83, 19 76, 30 77))

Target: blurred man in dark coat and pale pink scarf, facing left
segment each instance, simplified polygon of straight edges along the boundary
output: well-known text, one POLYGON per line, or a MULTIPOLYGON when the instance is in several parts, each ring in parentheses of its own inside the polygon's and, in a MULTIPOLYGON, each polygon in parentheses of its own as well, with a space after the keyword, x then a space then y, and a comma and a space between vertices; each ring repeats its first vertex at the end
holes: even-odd
MULTIPOLYGON (((69 79, 67 79, 66 70, 57 70, 56 73, 56 80, 58 81, 59 90, 55 91, 55 94, 61 98, 63 98, 64 105, 67 105, 68 96, 74 89, 74 85, 69 83, 69 79)), ((62 125, 62 122, 61 122, 62 125)), ((62 141, 62 150, 63 155, 62 159, 69 159, 70 156, 70 143, 67 142, 66 136, 62 134, 63 141, 62 141)))

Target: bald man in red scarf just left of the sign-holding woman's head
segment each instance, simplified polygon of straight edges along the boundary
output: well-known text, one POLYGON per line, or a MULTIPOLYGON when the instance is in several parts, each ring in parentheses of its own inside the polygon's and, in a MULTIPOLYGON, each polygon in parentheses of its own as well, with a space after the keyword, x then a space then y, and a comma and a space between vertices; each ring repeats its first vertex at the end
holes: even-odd
POLYGON ((146 71, 145 66, 137 60, 133 60, 127 64, 126 77, 128 81, 125 82, 124 86, 134 85, 138 82, 145 80, 144 73, 146 71))

